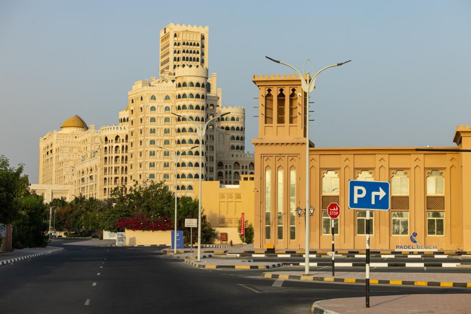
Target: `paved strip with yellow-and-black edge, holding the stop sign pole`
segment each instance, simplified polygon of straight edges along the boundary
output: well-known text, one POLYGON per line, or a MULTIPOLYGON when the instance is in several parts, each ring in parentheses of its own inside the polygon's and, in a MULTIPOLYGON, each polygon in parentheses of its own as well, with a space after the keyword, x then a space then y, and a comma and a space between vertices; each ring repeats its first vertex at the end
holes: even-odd
MULTIPOLYGON (((311 271, 309 275, 304 275, 304 271, 273 271, 263 273, 263 277, 350 284, 365 282, 364 272, 345 271, 335 272, 335 277, 332 277, 332 271, 311 271)), ((471 273, 371 272, 370 284, 471 288, 471 273)))

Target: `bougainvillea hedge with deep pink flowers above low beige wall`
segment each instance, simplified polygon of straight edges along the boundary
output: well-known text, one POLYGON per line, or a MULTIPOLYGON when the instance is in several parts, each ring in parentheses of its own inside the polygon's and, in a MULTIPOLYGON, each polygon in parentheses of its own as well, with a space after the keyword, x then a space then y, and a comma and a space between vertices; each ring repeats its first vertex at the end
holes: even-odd
POLYGON ((147 217, 144 214, 133 215, 130 218, 120 218, 117 228, 141 231, 172 230, 173 221, 167 216, 147 217))

